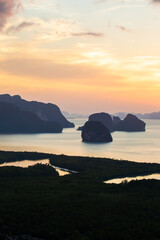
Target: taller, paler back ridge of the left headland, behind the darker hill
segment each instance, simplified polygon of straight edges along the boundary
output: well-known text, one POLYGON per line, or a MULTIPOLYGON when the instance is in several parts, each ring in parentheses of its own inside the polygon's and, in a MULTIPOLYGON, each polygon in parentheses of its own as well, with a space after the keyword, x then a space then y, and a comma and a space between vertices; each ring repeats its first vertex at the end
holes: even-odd
POLYGON ((19 95, 10 96, 9 94, 0 95, 0 102, 12 103, 22 111, 36 114, 43 121, 53 121, 61 124, 62 128, 74 127, 74 124, 63 116, 60 109, 55 104, 26 101, 19 95))

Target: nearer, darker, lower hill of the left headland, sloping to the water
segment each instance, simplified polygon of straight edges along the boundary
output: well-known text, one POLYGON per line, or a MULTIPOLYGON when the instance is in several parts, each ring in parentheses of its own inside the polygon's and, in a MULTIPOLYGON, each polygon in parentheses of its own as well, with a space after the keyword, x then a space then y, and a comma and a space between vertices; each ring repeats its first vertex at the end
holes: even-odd
POLYGON ((0 102, 0 133, 60 133, 57 122, 41 120, 36 114, 22 111, 15 105, 0 102))

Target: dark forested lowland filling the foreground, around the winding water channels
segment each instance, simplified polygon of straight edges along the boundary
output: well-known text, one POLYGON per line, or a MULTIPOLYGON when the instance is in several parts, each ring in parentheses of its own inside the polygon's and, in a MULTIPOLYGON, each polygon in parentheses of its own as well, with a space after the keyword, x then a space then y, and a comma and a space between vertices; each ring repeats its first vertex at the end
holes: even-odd
MULTIPOLYGON (((43 158, 0 152, 0 160, 33 160, 32 154, 43 158)), ((160 181, 103 183, 117 176, 160 172, 159 164, 49 157, 51 164, 78 173, 59 177, 54 168, 39 164, 25 170, 0 168, 1 239, 22 239, 24 234, 50 240, 160 239, 160 181)))

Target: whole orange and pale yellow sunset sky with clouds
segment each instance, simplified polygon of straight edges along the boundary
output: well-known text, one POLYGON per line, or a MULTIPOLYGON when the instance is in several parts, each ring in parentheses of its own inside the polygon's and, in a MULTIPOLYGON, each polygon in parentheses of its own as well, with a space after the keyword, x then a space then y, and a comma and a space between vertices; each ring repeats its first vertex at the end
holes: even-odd
POLYGON ((160 0, 0 0, 0 94, 160 111, 160 0))

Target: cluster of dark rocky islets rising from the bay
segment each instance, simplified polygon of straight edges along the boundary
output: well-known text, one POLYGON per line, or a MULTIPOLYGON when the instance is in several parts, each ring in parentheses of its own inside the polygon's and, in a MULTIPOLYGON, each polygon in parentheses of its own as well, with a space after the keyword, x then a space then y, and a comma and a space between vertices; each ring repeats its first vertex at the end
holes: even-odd
POLYGON ((84 142, 111 142, 111 132, 140 132, 145 131, 145 126, 145 122, 133 114, 128 114, 124 120, 121 120, 117 116, 102 112, 90 115, 85 125, 77 130, 82 131, 81 136, 84 142))

